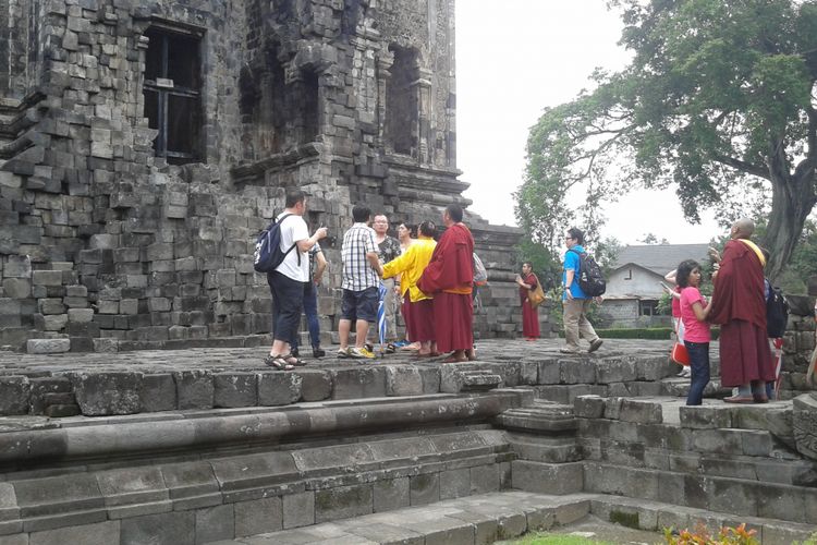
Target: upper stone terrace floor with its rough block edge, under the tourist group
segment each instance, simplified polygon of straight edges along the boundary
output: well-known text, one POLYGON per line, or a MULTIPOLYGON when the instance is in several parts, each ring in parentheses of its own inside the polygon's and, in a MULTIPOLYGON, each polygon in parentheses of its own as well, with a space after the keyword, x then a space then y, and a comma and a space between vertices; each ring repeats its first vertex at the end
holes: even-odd
MULTIPOLYGON (((419 396, 531 386, 572 403, 581 395, 683 396, 666 341, 609 340, 565 355, 558 339, 486 340, 477 361, 447 364, 401 351, 376 360, 313 359, 278 372, 266 349, 208 348, 119 353, 0 352, 0 415, 103 416, 174 410, 286 405, 298 401, 419 396)), ((717 358, 714 367, 717 374, 717 358)), ((717 393, 717 383, 710 393, 717 393)))

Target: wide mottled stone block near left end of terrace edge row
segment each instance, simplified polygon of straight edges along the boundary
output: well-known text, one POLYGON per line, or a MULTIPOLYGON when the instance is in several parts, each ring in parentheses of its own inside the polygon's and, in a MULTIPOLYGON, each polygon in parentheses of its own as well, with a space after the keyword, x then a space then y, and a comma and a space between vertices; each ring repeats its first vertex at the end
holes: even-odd
POLYGON ((76 403, 86 416, 142 411, 142 373, 95 372, 68 375, 76 403))

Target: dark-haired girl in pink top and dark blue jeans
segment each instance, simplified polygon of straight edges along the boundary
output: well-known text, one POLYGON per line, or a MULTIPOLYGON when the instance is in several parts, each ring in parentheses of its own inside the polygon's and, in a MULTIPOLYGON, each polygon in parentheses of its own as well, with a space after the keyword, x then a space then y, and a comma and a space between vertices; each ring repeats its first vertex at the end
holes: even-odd
POLYGON ((706 316, 711 303, 707 304, 698 290, 700 286, 700 265, 693 259, 678 266, 675 281, 681 288, 681 322, 684 325, 684 347, 690 353, 692 384, 686 396, 687 405, 699 405, 704 399, 704 389, 709 383, 709 324, 706 316))

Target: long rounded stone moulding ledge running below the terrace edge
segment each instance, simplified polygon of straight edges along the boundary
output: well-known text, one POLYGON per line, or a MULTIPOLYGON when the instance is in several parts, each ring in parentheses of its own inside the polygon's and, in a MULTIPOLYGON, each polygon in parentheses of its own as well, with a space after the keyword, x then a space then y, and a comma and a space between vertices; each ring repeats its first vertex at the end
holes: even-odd
POLYGON ((138 452, 199 449, 235 441, 263 443, 284 437, 336 434, 350 431, 400 429, 403 426, 447 422, 487 421, 529 399, 524 390, 486 393, 326 402, 291 405, 283 410, 224 410, 176 413, 160 419, 106 419, 77 421, 57 429, 15 431, 1 434, 0 463, 32 462, 59 457, 111 458, 138 452))

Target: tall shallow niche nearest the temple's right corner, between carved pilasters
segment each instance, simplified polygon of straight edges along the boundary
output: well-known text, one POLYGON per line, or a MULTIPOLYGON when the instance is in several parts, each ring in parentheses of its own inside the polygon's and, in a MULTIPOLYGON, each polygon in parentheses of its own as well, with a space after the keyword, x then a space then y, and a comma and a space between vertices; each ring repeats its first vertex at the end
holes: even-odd
POLYGON ((394 62, 386 85, 386 135, 394 153, 413 155, 417 148, 417 51, 392 46, 394 62))

